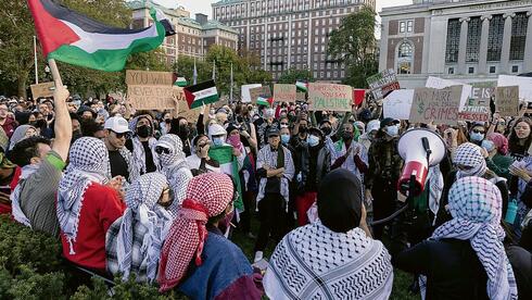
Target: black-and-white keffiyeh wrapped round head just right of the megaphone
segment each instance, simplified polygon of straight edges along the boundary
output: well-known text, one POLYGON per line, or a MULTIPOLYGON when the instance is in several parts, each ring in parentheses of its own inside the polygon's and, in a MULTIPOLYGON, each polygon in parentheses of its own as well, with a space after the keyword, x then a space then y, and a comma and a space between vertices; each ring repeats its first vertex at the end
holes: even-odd
POLYGON ((481 148, 471 142, 465 142, 456 148, 453 163, 472 167, 468 171, 456 172, 457 179, 467 176, 481 177, 487 170, 484 155, 482 155, 481 152, 481 148))

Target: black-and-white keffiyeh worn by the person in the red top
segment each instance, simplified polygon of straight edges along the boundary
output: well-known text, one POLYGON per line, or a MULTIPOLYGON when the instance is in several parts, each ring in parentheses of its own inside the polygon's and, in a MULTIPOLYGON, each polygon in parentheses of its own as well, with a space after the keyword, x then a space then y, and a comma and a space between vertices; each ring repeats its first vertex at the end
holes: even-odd
POLYGON ((100 139, 83 137, 72 146, 69 160, 59 183, 56 211, 61 230, 69 243, 69 253, 75 254, 73 241, 77 237, 85 191, 92 183, 104 184, 107 180, 107 148, 100 139))

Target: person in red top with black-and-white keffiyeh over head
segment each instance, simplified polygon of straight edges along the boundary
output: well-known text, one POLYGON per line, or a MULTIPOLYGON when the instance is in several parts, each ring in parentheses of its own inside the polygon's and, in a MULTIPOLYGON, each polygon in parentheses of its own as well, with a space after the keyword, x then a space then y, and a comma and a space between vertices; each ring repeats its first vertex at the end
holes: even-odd
POLYGON ((58 220, 63 255, 71 262, 104 272, 105 233, 121 217, 119 180, 107 178, 109 153, 102 140, 77 139, 59 185, 58 220))

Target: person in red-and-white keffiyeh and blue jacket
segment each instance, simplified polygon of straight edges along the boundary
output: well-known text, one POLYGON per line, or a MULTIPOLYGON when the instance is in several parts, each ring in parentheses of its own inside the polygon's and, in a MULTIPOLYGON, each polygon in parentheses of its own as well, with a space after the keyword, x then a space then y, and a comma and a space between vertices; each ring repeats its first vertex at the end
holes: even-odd
POLYGON ((254 282, 259 275, 217 229, 233 199, 233 184, 225 174, 206 173, 190 180, 161 252, 161 291, 177 287, 192 299, 261 299, 254 282))

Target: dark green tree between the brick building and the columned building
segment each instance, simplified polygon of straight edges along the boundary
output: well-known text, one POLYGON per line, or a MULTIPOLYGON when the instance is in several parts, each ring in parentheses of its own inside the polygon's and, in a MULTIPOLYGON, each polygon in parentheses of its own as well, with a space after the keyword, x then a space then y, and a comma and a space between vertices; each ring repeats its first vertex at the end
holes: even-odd
POLYGON ((369 7, 352 13, 332 30, 328 57, 346 66, 344 84, 367 87, 366 78, 378 72, 377 41, 375 39, 376 13, 369 7))

